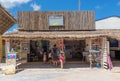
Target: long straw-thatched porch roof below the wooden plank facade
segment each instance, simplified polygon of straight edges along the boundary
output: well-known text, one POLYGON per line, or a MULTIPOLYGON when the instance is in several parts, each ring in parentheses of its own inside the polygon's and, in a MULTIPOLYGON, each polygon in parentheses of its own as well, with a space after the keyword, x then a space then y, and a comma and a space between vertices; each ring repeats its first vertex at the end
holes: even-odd
POLYGON ((17 31, 2 35, 3 38, 14 38, 14 39, 52 39, 52 38, 63 38, 63 39, 79 39, 79 38, 93 38, 93 37, 112 37, 117 38, 120 35, 120 30, 96 30, 96 31, 17 31))

